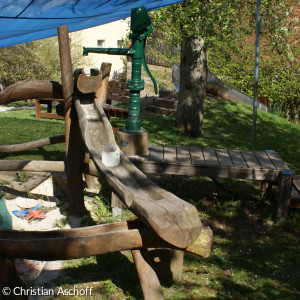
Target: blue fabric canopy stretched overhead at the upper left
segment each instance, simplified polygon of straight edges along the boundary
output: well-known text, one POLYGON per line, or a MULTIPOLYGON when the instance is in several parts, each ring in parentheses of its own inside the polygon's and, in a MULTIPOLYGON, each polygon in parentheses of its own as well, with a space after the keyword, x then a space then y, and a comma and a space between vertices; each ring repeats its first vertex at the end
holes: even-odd
POLYGON ((0 0, 0 48, 57 35, 57 27, 82 30, 182 0, 0 0))

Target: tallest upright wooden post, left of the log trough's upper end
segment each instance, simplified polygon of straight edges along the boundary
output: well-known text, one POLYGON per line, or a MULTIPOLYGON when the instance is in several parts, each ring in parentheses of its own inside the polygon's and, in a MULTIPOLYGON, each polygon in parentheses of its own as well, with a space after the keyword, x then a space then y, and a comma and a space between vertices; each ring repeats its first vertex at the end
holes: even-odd
POLYGON ((82 215, 85 210, 82 179, 84 147, 77 114, 74 107, 71 109, 74 80, 68 26, 58 27, 58 41, 65 111, 67 199, 69 201, 70 213, 73 215, 82 215))

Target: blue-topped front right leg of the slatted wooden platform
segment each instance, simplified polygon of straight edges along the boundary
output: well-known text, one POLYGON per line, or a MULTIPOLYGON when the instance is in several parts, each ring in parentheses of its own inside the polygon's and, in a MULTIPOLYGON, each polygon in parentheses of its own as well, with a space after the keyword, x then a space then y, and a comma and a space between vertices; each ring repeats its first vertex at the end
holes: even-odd
POLYGON ((293 185, 293 172, 284 170, 279 175, 279 193, 277 201, 277 222, 287 219, 288 209, 291 201, 291 191, 293 185))

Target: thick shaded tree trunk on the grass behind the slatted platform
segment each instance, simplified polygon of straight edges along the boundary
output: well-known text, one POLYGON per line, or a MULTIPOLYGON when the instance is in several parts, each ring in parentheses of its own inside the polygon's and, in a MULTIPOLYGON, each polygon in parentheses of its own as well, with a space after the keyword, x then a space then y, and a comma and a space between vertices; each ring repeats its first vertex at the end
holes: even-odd
POLYGON ((204 40, 186 39, 181 50, 176 127, 191 137, 199 137, 203 132, 206 76, 207 55, 204 40))

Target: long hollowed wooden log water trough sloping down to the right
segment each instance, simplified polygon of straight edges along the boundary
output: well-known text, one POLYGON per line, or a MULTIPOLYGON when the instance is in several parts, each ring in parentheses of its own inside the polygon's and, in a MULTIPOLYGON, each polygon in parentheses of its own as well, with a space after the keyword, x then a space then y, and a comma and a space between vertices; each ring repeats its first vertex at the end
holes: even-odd
POLYGON ((85 91, 83 82, 90 86, 90 80, 80 74, 75 108, 82 138, 98 172, 124 204, 162 239, 179 248, 187 247, 201 232, 196 208, 155 185, 122 152, 118 166, 108 168, 102 162, 103 146, 116 145, 116 141, 99 101, 80 101, 80 91, 85 91))

